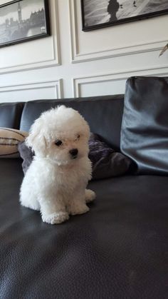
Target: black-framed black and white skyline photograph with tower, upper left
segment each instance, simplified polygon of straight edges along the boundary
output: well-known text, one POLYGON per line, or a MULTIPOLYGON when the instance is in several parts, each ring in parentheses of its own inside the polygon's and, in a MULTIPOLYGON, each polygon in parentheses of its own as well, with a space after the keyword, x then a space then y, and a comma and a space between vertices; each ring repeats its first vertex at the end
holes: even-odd
POLYGON ((48 35, 48 0, 15 0, 0 6, 0 47, 48 35))

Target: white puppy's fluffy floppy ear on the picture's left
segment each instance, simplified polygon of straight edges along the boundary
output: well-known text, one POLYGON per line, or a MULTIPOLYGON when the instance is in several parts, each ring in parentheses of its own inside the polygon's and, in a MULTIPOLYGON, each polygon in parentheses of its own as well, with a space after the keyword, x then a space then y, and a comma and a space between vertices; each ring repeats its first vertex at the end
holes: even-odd
POLYGON ((38 153, 41 156, 46 156, 47 144, 41 117, 37 118, 31 126, 28 137, 26 138, 26 145, 31 147, 35 153, 38 153))

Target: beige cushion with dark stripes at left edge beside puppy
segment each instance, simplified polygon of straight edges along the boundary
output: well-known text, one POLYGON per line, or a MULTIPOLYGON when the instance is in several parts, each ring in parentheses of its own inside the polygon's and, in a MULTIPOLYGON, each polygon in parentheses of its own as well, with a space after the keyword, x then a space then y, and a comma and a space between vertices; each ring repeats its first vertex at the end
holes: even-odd
POLYGON ((14 128, 0 128, 0 158, 19 158, 18 143, 24 141, 28 132, 14 128))

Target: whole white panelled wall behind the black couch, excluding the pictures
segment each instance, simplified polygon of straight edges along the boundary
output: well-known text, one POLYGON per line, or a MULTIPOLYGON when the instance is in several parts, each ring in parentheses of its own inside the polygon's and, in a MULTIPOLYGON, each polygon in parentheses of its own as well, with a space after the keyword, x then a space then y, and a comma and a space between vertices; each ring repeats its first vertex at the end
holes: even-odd
POLYGON ((49 3, 51 36, 0 48, 0 101, 123 93, 129 76, 168 75, 168 15, 83 32, 80 0, 49 3))

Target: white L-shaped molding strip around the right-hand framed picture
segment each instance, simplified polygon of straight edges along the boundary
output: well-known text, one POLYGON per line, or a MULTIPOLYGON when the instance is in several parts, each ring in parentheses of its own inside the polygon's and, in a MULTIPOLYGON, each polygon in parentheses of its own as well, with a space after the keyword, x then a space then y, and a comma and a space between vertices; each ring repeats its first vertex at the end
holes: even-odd
POLYGON ((75 0, 69 0, 69 15, 72 64, 98 59, 107 59, 118 56, 141 54, 150 51, 159 51, 165 44, 167 44, 166 39, 160 39, 151 41, 150 43, 132 44, 130 46, 105 49, 103 51, 90 51, 80 53, 78 46, 77 9, 75 0))

